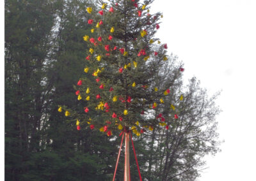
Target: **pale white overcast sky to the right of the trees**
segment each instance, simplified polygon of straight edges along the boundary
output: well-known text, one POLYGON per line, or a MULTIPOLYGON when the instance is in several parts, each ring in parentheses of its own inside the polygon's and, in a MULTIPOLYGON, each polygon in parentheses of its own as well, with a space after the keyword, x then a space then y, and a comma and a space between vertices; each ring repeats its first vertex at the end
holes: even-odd
POLYGON ((217 103, 222 152, 206 157, 200 181, 256 180, 256 1, 155 0, 162 11, 157 37, 196 76, 217 103))

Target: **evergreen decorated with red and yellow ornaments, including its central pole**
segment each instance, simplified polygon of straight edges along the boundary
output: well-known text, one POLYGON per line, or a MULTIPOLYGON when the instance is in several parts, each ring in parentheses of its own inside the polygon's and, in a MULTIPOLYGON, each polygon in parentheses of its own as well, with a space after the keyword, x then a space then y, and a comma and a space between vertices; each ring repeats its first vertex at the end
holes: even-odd
MULTIPOLYGON (((78 106, 59 106, 58 111, 76 121, 77 130, 99 130, 111 136, 125 133, 125 153, 129 154, 129 134, 137 136, 168 124, 159 105, 164 106, 173 82, 157 87, 159 68, 168 61, 166 44, 154 37, 161 13, 150 15, 152 0, 98 1, 99 9, 86 7, 91 33, 84 35, 88 50, 84 55, 84 76, 77 85, 78 106), (152 115, 157 116, 152 117, 152 115), (118 134, 119 134, 118 133, 118 134)), ((173 72, 173 80, 183 68, 173 72)), ((173 112, 173 118, 179 115, 173 112)), ((125 156, 125 163, 129 157, 125 156)), ((125 178, 129 169, 125 168, 125 178)))

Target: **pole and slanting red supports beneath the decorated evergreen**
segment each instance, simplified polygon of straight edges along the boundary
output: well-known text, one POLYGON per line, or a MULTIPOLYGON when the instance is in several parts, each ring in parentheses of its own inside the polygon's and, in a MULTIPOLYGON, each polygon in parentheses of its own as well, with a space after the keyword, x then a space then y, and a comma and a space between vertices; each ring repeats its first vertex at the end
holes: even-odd
POLYGON ((116 170, 117 170, 117 166, 118 166, 118 162, 119 162, 119 157, 120 157, 120 152, 121 152, 121 149, 122 149, 122 143, 123 143, 124 137, 125 137, 124 181, 131 181, 130 159, 129 159, 130 158, 130 156, 129 156, 129 141, 130 141, 130 138, 131 138, 131 142, 132 142, 134 157, 135 157, 137 168, 138 168, 138 173, 139 173, 139 176, 140 176, 140 181, 142 181, 141 174, 140 174, 140 167, 139 167, 139 164, 138 164, 138 159, 136 157, 136 152, 135 152, 134 144, 133 144, 133 141, 132 141, 132 133, 131 133, 131 131, 125 131, 125 132, 122 131, 122 133, 120 133, 119 136, 121 136, 121 135, 122 135, 122 141, 121 141, 121 144, 120 144, 118 157, 117 157, 117 160, 116 160, 116 168, 115 168, 113 181, 115 181, 116 170), (130 134, 131 134, 131 136, 130 136, 130 134))

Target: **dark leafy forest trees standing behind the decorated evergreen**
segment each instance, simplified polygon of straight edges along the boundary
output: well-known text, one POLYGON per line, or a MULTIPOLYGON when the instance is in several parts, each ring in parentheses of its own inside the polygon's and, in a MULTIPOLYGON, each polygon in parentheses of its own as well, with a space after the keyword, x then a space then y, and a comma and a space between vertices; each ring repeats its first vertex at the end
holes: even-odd
MULTIPOLYGON (((94 1, 5 0, 5 180, 111 180, 120 138, 76 124, 58 105, 76 107, 77 80, 84 75, 90 34, 86 7, 94 1)), ((172 83, 164 104, 184 97, 184 111, 170 129, 134 136, 143 179, 195 180, 204 156, 219 151, 215 105, 195 77, 188 85, 175 76, 174 55, 159 68, 156 85, 172 83)), ((118 135, 118 134, 117 134, 118 135)), ((121 155, 116 180, 124 177, 121 155)), ((131 180, 138 180, 131 155, 131 180)))

